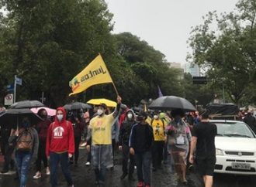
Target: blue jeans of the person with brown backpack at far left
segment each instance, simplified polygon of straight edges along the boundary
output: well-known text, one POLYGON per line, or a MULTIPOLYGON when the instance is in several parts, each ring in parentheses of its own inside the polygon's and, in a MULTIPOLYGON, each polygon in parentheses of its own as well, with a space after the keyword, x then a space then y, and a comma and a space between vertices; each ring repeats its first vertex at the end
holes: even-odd
POLYGON ((20 187, 26 186, 31 157, 32 157, 31 152, 16 151, 15 153, 16 165, 19 173, 20 187))

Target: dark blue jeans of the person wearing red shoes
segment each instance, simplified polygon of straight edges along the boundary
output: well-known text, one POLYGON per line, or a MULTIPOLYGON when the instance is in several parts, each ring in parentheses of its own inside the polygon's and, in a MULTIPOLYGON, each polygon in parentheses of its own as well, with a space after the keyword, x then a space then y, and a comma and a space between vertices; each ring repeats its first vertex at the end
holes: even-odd
POLYGON ((150 185, 150 165, 151 151, 136 152, 135 162, 137 165, 137 175, 139 182, 144 182, 145 185, 150 185))

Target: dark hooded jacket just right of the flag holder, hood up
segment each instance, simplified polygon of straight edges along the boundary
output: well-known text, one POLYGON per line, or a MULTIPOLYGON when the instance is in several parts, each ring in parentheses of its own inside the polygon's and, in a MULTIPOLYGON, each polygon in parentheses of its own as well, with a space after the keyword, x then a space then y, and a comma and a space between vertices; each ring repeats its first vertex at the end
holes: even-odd
POLYGON ((119 145, 129 145, 130 132, 132 131, 133 125, 136 123, 133 110, 127 110, 124 121, 119 130, 119 145), (131 120, 127 117, 129 112, 132 112, 133 114, 133 118, 131 120))

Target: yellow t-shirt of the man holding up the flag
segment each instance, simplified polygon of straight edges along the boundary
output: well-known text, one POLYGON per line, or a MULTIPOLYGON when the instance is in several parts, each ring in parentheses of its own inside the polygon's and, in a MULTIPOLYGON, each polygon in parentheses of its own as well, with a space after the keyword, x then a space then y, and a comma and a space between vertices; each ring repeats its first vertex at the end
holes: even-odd
POLYGON ((92 129, 92 145, 112 144, 112 122, 114 120, 112 114, 92 118, 88 127, 92 129))

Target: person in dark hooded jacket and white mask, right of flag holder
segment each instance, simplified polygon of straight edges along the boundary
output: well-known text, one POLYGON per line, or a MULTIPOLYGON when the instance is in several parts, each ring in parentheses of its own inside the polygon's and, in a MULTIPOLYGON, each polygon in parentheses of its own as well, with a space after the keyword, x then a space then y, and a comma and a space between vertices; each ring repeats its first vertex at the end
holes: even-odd
POLYGON ((129 180, 133 180, 133 172, 134 172, 134 156, 130 154, 129 150, 129 138, 130 132, 133 128, 133 125, 137 122, 135 121, 135 114, 133 110, 127 110, 126 116, 124 118, 123 123, 120 126, 119 131, 119 150, 122 151, 122 169, 123 175, 121 175, 120 179, 123 180, 128 175, 129 180), (129 162, 129 170, 128 170, 128 160, 129 162))

